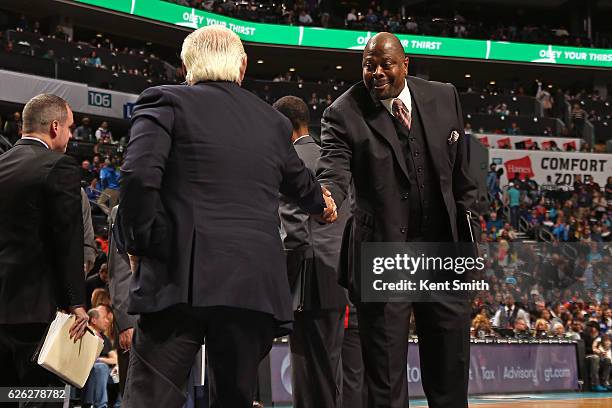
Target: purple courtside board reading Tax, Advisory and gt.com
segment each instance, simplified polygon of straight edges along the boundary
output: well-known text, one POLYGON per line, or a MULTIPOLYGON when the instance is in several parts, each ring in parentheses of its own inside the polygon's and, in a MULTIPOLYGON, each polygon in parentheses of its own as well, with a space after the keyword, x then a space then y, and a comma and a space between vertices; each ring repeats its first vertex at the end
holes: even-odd
MULTIPOLYGON (((443 367, 434 367, 443 369, 443 367)), ((289 347, 276 344, 270 352, 272 401, 291 401, 289 347)), ((424 397, 418 345, 408 345, 408 394, 424 397)), ((574 344, 472 344, 469 392, 574 391, 578 366, 574 344)))

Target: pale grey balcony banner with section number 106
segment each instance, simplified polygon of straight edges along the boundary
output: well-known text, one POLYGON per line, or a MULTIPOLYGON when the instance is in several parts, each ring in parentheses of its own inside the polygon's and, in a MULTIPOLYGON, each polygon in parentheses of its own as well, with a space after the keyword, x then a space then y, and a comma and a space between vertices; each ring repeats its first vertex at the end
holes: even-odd
POLYGON ((40 93, 52 93, 64 98, 78 113, 107 118, 129 119, 138 95, 85 84, 0 70, 2 100, 25 104, 40 93))

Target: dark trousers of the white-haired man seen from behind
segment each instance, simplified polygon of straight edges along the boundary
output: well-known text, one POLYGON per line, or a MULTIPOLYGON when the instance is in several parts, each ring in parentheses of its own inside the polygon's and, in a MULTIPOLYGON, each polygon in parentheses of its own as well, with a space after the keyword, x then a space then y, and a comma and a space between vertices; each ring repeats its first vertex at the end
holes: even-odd
POLYGON ((211 408, 251 408, 261 360, 276 323, 266 313, 180 305, 142 314, 130 351, 124 408, 180 408, 206 339, 211 408))

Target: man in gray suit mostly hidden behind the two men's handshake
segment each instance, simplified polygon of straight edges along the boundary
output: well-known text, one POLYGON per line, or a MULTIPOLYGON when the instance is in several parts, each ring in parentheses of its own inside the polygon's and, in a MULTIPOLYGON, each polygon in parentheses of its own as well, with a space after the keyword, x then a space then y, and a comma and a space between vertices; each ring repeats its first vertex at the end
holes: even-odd
MULTIPOLYGON (((306 167, 314 170, 319 146, 308 134, 308 106, 295 96, 274 104, 293 126, 291 139, 306 167)), ((293 406, 342 407, 344 289, 337 283, 338 254, 349 200, 334 224, 322 225, 281 196, 281 234, 294 295, 295 323, 289 336, 293 406)))

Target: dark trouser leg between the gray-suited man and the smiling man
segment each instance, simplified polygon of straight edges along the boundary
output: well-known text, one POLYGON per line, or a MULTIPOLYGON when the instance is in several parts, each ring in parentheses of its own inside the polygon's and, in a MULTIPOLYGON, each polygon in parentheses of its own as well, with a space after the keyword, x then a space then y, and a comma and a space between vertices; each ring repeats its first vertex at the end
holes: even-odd
POLYGON ((359 329, 344 330, 342 342, 342 407, 365 408, 368 387, 365 384, 365 369, 361 351, 359 329))

